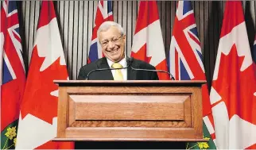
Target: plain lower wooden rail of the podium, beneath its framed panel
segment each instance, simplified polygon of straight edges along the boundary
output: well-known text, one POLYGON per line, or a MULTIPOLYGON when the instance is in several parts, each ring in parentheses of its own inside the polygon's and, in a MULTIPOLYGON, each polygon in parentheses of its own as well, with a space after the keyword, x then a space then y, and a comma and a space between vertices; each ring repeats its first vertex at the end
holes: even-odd
POLYGON ((91 127, 91 128, 76 128, 69 127, 66 129, 66 137, 74 138, 170 138, 170 139, 200 139, 203 136, 199 135, 192 128, 187 129, 169 129, 169 128, 139 128, 139 127, 91 127))

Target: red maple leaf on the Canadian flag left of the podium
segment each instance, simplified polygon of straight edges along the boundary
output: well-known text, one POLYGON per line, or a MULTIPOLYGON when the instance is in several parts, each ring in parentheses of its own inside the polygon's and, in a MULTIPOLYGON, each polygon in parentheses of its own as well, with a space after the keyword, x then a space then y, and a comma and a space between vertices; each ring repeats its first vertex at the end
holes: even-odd
POLYGON ((52 124, 52 118, 57 116, 58 98, 50 93, 58 90, 54 79, 67 79, 68 72, 65 65, 60 65, 60 57, 45 71, 40 71, 45 57, 39 57, 37 45, 33 49, 29 66, 29 75, 25 86, 25 93, 21 104, 21 117, 28 113, 52 124))

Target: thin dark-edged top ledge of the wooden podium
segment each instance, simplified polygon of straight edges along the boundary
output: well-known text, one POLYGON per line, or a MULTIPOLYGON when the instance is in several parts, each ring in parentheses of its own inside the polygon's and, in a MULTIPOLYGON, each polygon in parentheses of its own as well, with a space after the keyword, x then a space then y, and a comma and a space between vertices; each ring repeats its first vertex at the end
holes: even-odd
POLYGON ((174 86, 192 86, 201 87, 207 83, 206 80, 53 80, 60 87, 80 87, 80 86, 156 86, 156 87, 174 87, 174 86))

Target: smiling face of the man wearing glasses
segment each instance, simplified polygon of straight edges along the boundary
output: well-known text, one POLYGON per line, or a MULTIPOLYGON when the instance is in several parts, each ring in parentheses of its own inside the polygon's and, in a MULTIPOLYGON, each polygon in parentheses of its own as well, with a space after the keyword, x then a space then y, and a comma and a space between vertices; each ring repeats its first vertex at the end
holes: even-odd
POLYGON ((110 29, 100 32, 99 43, 104 56, 112 62, 118 62, 125 57, 126 36, 121 36, 117 27, 111 26, 110 29))

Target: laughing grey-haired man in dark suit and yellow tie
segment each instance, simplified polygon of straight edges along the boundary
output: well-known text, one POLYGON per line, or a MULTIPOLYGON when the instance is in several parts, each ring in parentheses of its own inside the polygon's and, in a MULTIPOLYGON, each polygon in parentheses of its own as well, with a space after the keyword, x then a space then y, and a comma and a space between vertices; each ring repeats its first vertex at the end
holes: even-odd
POLYGON ((122 26, 114 21, 105 21, 98 29, 98 42, 105 57, 80 68, 78 79, 89 80, 158 80, 155 71, 136 71, 137 69, 155 70, 155 67, 141 60, 133 59, 127 67, 125 58, 126 35, 122 26), (116 70, 107 70, 116 68, 116 70), (100 69, 104 69, 100 71, 100 69))

